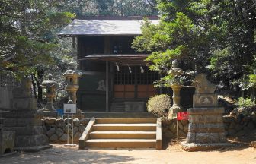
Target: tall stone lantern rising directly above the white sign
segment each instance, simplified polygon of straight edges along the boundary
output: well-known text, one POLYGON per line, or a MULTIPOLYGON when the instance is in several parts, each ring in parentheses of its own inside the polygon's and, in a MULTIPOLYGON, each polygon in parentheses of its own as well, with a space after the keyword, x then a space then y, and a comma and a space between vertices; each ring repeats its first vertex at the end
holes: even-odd
POLYGON ((69 63, 69 69, 63 74, 63 76, 66 77, 66 91, 69 93, 69 99, 71 99, 73 103, 76 103, 76 92, 79 88, 78 77, 81 77, 81 73, 76 69, 74 62, 69 63))

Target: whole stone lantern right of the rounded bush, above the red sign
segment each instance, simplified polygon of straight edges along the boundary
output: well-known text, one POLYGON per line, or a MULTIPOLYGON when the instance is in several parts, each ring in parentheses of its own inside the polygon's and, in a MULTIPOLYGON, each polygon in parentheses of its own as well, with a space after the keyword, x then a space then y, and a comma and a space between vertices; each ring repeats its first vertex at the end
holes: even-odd
POLYGON ((175 118, 176 113, 182 111, 181 107, 181 88, 183 87, 176 78, 183 74, 183 70, 181 68, 178 68, 178 61, 174 60, 172 61, 172 66, 170 71, 168 71, 168 74, 174 77, 174 81, 171 83, 171 89, 173 92, 173 105, 171 106, 170 113, 168 115, 168 118, 175 118))

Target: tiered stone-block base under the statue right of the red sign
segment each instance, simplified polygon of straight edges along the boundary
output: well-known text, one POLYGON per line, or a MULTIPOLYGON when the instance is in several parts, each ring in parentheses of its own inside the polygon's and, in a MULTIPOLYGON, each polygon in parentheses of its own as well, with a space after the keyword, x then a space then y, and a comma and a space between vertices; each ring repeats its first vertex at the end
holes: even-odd
POLYGON ((222 120, 223 108, 202 107, 187 109, 189 125, 187 143, 213 144, 226 143, 226 134, 222 120))

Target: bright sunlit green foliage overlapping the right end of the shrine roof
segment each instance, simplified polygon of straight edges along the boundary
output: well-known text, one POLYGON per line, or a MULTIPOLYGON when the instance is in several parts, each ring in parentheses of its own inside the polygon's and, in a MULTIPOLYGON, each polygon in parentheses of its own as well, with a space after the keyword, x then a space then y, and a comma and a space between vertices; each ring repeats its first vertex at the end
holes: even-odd
MULTIPOLYGON (((173 68, 171 61, 178 60, 187 65, 197 65, 197 68, 208 65, 208 62, 201 58, 201 55, 208 55, 205 50, 209 49, 209 46, 203 43, 206 36, 184 13, 177 12, 172 20, 162 19, 158 25, 145 21, 142 33, 142 36, 134 39, 133 48, 140 52, 152 52, 146 61, 149 62, 150 70, 164 75, 158 83, 183 83, 181 77, 168 75, 168 71, 173 68)), ((191 71, 191 68, 187 68, 186 71, 191 71)))

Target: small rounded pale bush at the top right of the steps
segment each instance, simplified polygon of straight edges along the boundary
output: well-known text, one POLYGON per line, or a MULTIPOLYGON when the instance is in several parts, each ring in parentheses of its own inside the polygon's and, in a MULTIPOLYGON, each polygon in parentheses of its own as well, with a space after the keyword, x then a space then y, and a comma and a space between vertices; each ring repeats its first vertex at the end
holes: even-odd
POLYGON ((156 95, 149 99, 147 109, 152 114, 159 117, 166 117, 168 109, 171 108, 171 97, 165 94, 156 95))

